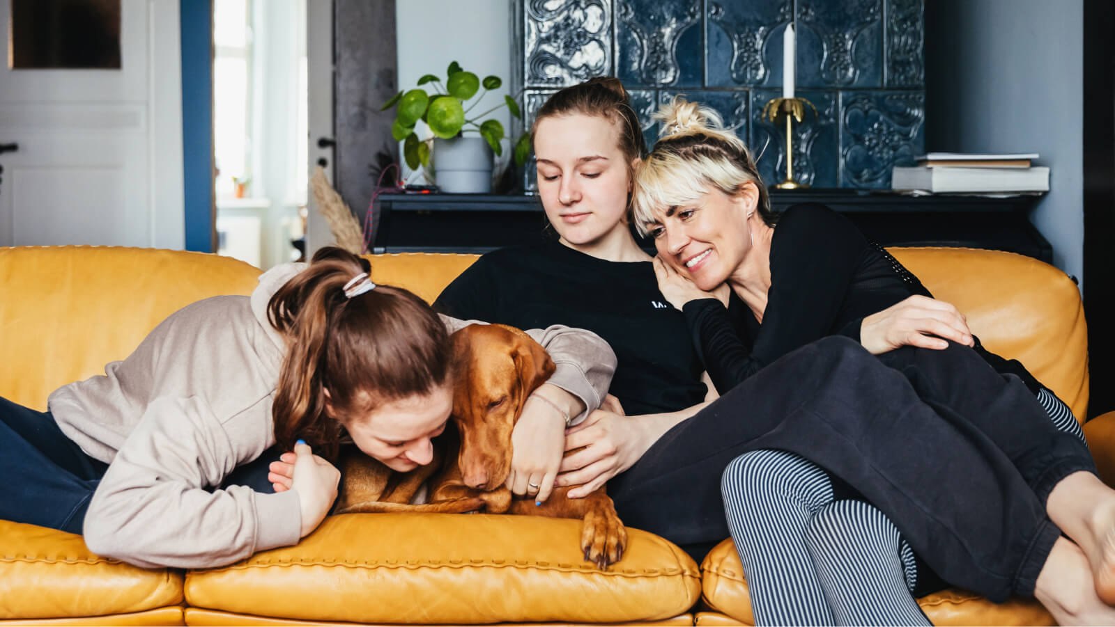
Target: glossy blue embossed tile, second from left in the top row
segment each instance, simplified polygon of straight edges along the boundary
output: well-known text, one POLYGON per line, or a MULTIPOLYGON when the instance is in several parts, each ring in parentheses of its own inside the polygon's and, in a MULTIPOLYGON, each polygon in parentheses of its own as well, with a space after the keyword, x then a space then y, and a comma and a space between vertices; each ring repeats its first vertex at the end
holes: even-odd
POLYGON ((700 87, 701 0, 614 0, 615 75, 629 87, 700 87))

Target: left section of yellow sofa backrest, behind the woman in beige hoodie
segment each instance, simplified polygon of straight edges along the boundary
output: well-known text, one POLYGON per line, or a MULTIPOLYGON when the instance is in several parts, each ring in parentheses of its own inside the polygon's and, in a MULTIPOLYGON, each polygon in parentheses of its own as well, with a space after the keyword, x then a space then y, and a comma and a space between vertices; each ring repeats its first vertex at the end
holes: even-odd
POLYGON ((105 373, 178 308, 250 294, 259 268, 203 253, 106 246, 0 248, 0 396, 45 410, 105 373))

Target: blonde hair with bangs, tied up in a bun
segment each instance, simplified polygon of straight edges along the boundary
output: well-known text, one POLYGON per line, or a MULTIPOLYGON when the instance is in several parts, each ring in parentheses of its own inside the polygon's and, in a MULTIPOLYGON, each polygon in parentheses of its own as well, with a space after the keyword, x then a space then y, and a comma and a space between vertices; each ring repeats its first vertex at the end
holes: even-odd
POLYGON ((658 144, 639 167, 631 214, 639 234, 657 222, 656 209, 689 203, 716 188, 734 196, 746 183, 759 190, 758 212, 773 225, 766 186, 743 140, 724 128, 720 115, 676 96, 653 119, 661 124, 658 144))

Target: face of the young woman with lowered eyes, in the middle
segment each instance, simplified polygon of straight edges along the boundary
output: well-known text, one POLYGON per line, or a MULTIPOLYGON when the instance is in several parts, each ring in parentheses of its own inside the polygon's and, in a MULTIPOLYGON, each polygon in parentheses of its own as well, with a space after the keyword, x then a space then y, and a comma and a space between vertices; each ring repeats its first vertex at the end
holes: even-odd
POLYGON ((573 114, 542 119, 534 131, 539 194, 550 224, 574 248, 627 237, 631 176, 617 124, 573 114))

